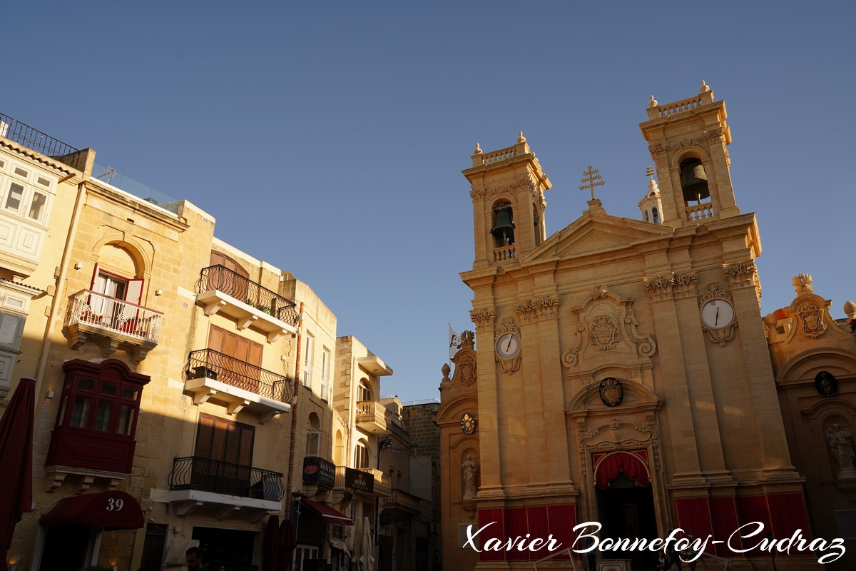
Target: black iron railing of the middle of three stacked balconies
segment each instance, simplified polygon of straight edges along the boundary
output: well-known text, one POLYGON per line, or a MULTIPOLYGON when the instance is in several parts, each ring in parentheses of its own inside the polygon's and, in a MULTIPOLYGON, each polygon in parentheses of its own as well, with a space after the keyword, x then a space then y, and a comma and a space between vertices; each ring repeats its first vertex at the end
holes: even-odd
POLYGON ((230 357, 213 349, 191 351, 185 378, 212 378, 274 401, 290 402, 294 396, 291 379, 230 357))

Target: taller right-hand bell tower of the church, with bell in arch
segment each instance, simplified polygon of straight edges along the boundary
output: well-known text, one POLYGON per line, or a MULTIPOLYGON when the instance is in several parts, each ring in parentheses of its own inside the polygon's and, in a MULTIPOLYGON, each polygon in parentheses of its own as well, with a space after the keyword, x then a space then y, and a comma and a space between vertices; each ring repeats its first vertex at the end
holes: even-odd
POLYGON ((681 228, 740 215, 725 148, 727 116, 725 102, 714 101, 704 81, 698 95, 675 103, 651 96, 648 121, 639 128, 657 164, 663 224, 681 228))

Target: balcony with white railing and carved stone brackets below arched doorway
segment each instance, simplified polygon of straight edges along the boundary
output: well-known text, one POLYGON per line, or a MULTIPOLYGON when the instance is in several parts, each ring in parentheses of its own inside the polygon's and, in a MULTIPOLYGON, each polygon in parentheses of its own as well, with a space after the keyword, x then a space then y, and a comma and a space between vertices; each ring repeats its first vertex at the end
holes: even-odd
POLYGON ((64 325, 71 348, 92 340, 98 342, 104 356, 122 348, 139 363, 158 346, 162 322, 162 312, 83 289, 68 298, 64 325))

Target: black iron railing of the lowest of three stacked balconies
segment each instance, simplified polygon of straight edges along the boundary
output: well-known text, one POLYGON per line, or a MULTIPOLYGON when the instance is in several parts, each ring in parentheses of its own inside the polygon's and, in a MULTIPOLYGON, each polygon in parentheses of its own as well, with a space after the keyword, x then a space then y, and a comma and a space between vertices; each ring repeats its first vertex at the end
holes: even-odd
POLYGON ((175 458, 169 490, 199 490, 279 502, 285 495, 282 474, 200 456, 175 458))

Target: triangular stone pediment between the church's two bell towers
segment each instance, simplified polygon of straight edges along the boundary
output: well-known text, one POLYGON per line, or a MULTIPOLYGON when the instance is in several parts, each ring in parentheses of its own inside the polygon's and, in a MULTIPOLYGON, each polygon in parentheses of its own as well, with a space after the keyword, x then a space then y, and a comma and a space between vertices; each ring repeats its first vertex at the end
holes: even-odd
MULTIPOLYGON (((610 216, 603 208, 583 213, 573 223, 551 235, 525 257, 526 261, 567 258, 633 246, 639 241, 669 238, 675 229, 632 218, 610 216)), ((521 259, 521 261, 523 261, 521 259)))

